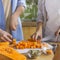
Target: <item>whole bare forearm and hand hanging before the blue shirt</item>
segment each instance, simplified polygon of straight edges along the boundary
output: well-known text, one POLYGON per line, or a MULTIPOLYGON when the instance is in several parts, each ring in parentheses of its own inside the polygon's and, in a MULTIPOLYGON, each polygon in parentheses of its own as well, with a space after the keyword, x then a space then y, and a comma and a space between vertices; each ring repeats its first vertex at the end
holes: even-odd
POLYGON ((18 25, 18 17, 24 12, 24 7, 23 6, 18 6, 16 11, 11 17, 11 23, 10 23, 10 29, 11 30, 16 30, 17 25, 18 25))

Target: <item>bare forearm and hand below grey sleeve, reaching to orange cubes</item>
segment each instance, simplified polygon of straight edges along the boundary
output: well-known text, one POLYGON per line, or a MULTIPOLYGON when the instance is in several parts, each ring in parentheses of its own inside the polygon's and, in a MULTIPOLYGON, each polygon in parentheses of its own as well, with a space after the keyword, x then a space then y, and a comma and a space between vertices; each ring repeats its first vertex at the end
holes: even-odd
POLYGON ((31 36, 33 40, 41 40, 42 39, 42 23, 37 24, 36 32, 31 36))

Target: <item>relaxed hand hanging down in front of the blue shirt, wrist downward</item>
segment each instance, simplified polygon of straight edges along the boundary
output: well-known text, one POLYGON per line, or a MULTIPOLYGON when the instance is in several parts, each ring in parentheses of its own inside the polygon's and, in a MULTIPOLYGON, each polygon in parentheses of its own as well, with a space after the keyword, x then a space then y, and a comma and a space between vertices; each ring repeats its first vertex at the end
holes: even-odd
POLYGON ((15 14, 11 16, 11 21, 10 21, 10 30, 16 30, 18 25, 18 18, 15 14))

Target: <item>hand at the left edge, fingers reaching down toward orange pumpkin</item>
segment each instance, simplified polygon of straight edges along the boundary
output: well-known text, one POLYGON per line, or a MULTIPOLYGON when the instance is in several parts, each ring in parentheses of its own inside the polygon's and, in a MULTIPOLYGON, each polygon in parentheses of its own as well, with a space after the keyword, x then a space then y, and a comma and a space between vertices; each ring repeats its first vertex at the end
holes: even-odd
POLYGON ((8 32, 0 29, 0 40, 12 42, 12 36, 8 32))

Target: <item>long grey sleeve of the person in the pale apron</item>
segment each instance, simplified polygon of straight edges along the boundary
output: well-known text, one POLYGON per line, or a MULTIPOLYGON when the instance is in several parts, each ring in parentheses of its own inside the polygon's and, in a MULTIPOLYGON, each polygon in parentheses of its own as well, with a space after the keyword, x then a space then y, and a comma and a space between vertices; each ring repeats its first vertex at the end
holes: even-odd
POLYGON ((43 1, 38 0, 37 22, 43 22, 43 1))

